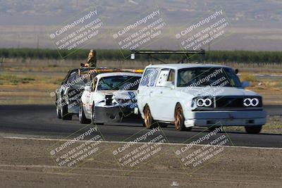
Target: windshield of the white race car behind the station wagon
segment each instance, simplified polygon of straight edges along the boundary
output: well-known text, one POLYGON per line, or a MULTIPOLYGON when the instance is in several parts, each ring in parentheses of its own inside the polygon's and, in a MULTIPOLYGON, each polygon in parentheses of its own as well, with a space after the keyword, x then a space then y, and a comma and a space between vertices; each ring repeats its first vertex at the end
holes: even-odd
POLYGON ((141 77, 137 76, 111 76, 99 80, 97 90, 136 90, 141 77))

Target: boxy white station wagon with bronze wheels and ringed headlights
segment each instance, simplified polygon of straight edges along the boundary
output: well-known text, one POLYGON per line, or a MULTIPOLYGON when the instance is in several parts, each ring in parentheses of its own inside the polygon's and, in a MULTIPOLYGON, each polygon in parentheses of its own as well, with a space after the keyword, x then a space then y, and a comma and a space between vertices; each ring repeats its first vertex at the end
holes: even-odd
POLYGON ((154 120, 193 126, 245 126, 259 133, 266 123, 262 96, 244 89, 233 68, 223 65, 148 65, 137 89, 137 104, 147 128, 154 120))

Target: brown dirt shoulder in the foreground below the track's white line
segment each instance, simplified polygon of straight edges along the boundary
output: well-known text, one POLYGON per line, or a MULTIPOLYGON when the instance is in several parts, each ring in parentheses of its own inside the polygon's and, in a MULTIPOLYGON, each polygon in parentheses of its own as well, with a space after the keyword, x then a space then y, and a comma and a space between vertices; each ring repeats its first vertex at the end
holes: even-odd
POLYGON ((113 149, 123 144, 101 143, 99 155, 69 171, 58 168, 48 152, 58 141, 0 138, 0 142, 1 187, 279 187, 282 183, 281 149, 224 147, 218 159, 195 170, 183 167, 173 152, 177 146, 162 145, 159 156, 133 170, 121 168, 113 156, 113 149))

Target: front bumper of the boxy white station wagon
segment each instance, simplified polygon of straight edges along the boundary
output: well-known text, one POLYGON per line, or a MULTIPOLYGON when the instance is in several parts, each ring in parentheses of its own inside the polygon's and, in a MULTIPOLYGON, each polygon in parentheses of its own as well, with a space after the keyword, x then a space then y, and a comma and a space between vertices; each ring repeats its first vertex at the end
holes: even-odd
POLYGON ((262 111, 187 111, 185 127, 212 125, 254 126, 266 123, 266 112, 262 111))

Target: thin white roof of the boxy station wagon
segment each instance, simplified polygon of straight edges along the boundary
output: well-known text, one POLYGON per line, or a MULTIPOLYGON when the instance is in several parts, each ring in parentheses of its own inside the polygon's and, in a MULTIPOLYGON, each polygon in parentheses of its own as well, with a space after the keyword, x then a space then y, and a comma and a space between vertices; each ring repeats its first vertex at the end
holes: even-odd
POLYGON ((214 65, 214 64, 202 64, 202 63, 168 63, 158 65, 148 65, 147 68, 172 68, 172 69, 183 69, 183 68, 230 68, 225 65, 214 65))

